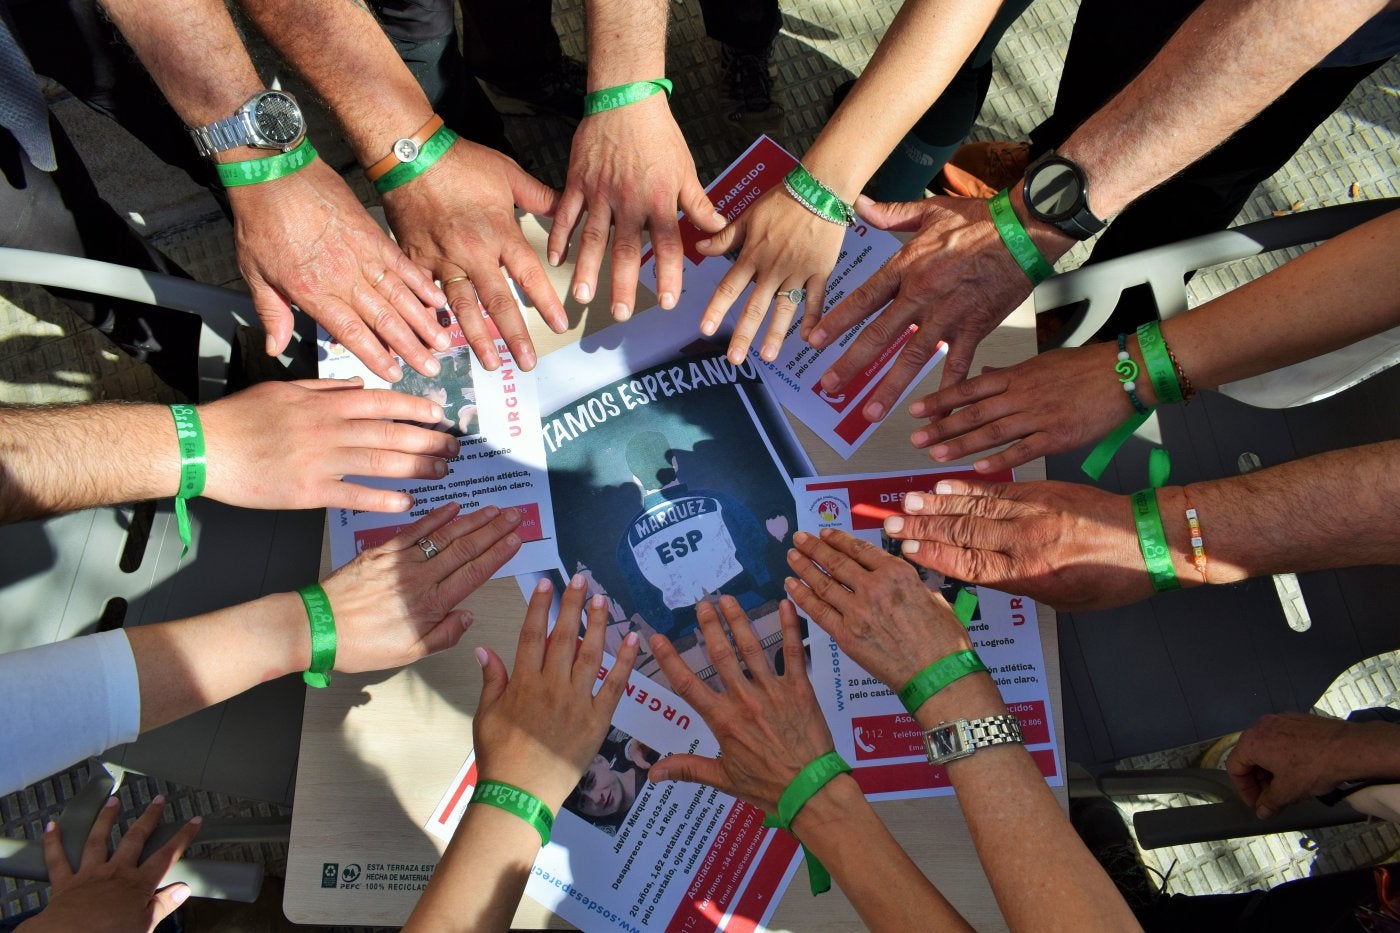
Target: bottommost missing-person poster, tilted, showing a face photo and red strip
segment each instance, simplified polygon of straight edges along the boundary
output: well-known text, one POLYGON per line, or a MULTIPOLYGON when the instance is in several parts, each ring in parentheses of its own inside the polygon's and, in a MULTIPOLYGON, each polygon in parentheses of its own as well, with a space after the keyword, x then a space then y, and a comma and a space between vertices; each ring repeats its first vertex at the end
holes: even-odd
MULTIPOLYGON (((598 672, 602 682, 610 664, 598 672)), ((662 755, 714 755, 704 721, 633 672, 613 727, 554 818, 525 892, 584 930, 763 929, 801 862, 797 839, 713 787, 652 785, 662 755)), ((466 759, 427 829, 448 841, 476 786, 466 759)))

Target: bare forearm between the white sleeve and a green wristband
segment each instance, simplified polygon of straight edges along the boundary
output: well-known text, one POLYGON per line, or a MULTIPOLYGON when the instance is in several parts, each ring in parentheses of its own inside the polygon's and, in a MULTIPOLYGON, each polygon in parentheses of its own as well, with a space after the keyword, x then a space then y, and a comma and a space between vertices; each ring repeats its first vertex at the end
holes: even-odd
POLYGON ((143 733, 311 663, 311 626, 294 593, 126 633, 140 681, 143 733))

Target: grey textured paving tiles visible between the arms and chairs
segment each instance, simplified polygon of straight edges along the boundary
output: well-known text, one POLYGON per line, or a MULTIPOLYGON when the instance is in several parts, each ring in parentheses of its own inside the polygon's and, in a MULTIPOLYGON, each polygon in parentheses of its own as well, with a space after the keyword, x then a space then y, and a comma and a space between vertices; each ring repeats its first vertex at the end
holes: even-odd
MULTIPOLYGON (((560 0, 554 8, 566 52, 582 57, 582 0, 560 0)), ((801 153, 826 120, 832 91, 865 66, 899 3, 784 0, 783 8, 784 28, 773 52, 783 116, 764 129, 801 153)), ((997 50, 991 92, 973 129, 973 139, 1023 139, 1050 113, 1077 8, 1077 0, 1036 0, 1016 21, 997 50)), ((673 109, 692 144, 701 178, 710 178, 750 141, 745 136, 750 127, 736 127, 725 116, 728 105, 720 92, 718 49, 704 36, 694 0, 678 0, 672 6, 668 46, 668 71, 676 80, 673 109)), ((1397 195, 1397 88, 1400 63, 1390 62, 1357 88, 1278 175, 1254 192, 1238 221, 1264 219, 1296 202, 1302 202, 1303 207, 1344 203, 1351 198, 1352 184, 1358 186, 1359 198, 1397 195)), ((85 153, 104 193, 119 210, 127 212, 133 223, 200 280, 241 287, 230 227, 203 189, 167 170, 125 133, 66 98, 62 90, 55 91, 53 104, 85 153)), ((561 186, 571 126, 552 118, 508 116, 505 122, 512 143, 528 154, 531 171, 561 186)), ((325 143, 318 139, 318 148, 333 164, 350 167, 346 148, 333 139, 325 143)), ((350 172, 350 181, 360 185, 361 196, 368 198, 358 182, 358 172, 350 172)), ((1284 256, 1296 252, 1288 251, 1284 256)), ((1060 262, 1060 269, 1075 268, 1085 255, 1086 247, 1078 247, 1060 262)), ((1197 276, 1191 284, 1193 304, 1274 268, 1281 258, 1256 258, 1197 276)), ((0 402, 171 398, 171 391, 148 368, 130 361, 46 293, 22 286, 0 287, 0 402)), ((1322 709, 1344 713, 1358 703, 1394 703, 1400 699, 1396 696, 1397 671, 1400 661, 1394 656, 1361 665, 1338 681, 1322 709)), ((1170 749, 1126 765, 1191 763, 1201 751, 1170 749)), ((84 768, 74 768, 17 794, 0 797, 0 832, 36 838, 43 821, 73 794, 83 773, 84 768)), ((171 818, 188 818, 195 813, 273 813, 267 804, 256 801, 207 794, 154 779, 133 779, 123 790, 125 817, 139 815, 155 793, 165 793, 174 801, 171 818)), ((1127 801, 1127 808, 1170 803, 1161 799, 1134 800, 1127 801)), ((1256 836, 1208 846, 1182 846, 1149 852, 1147 860, 1163 874, 1175 864, 1170 891, 1225 892, 1362 864, 1394 852, 1397 846, 1400 838, 1394 827, 1348 827, 1298 836, 1256 836)), ((273 873, 284 859, 284 852, 277 849, 234 849, 224 855, 263 860, 273 873)), ((0 878, 0 913, 4 916, 38 906, 45 899, 43 885, 0 878)))

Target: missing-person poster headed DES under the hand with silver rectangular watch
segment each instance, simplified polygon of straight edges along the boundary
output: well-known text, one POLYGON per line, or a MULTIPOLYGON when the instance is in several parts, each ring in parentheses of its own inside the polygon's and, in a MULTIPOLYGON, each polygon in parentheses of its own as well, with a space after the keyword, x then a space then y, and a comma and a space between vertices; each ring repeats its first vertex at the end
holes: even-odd
MULTIPOLYGON (((958 466, 917 474, 802 479, 795 485, 798 523, 802 531, 812 534, 839 528, 897 555, 899 542, 883 532, 885 518, 902 514, 900 503, 907 493, 932 496, 934 485, 949 475, 993 482, 1014 479, 1009 471, 983 475, 958 466)), ((1035 602, 988 587, 972 587, 914 566, 924 583, 942 593, 949 605, 955 605, 963 591, 976 593, 976 609, 966 622, 973 647, 997 682, 1007 709, 1021 720, 1030 756, 1050 786, 1060 786, 1064 776, 1056 758, 1050 686, 1035 602)), ((899 800, 951 794, 946 772, 928 766, 923 730, 899 698, 815 625, 811 626, 811 650, 812 688, 832 727, 836 751, 851 762, 865 796, 871 800, 899 800)))

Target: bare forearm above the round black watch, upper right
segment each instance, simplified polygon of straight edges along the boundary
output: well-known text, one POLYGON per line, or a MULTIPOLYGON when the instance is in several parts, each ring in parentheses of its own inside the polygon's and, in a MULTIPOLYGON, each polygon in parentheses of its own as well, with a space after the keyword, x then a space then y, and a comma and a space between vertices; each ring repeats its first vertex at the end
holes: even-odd
POLYGON ((1194 163, 1385 6, 1208 0, 1060 147, 1084 167, 1089 206, 1110 217, 1194 163))

